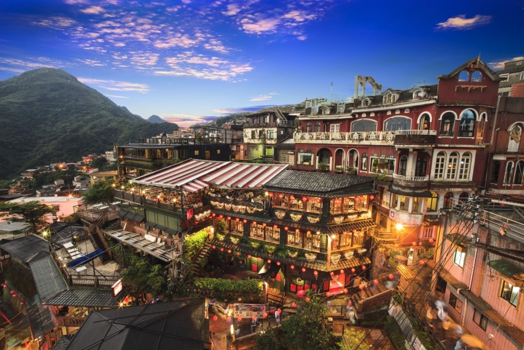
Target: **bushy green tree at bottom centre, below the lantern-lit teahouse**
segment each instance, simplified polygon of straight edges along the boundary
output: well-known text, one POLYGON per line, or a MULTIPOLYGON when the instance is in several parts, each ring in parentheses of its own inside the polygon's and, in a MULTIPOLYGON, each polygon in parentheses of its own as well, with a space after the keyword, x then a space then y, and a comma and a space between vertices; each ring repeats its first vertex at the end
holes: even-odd
POLYGON ((260 350, 274 350, 271 344, 280 343, 280 349, 331 349, 336 348, 333 332, 325 327, 328 317, 326 305, 318 298, 311 296, 309 302, 299 300, 297 313, 282 320, 277 331, 260 334, 256 340, 256 348, 260 350), (265 338, 277 335, 278 340, 265 338), (267 347, 266 347, 267 346, 267 347))

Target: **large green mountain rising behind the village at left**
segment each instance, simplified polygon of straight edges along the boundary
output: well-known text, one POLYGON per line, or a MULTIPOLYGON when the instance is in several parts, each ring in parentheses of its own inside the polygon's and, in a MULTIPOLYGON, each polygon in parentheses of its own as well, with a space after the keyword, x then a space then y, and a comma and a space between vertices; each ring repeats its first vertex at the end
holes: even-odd
POLYGON ((0 179, 173 130, 177 124, 150 123, 61 69, 0 81, 0 179))

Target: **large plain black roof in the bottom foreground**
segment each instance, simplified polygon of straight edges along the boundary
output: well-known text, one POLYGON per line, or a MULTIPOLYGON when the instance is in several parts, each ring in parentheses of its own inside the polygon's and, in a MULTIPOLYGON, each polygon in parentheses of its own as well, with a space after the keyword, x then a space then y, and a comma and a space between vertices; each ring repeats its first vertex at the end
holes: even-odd
POLYGON ((74 335, 74 349, 210 348, 204 299, 93 311, 74 335))

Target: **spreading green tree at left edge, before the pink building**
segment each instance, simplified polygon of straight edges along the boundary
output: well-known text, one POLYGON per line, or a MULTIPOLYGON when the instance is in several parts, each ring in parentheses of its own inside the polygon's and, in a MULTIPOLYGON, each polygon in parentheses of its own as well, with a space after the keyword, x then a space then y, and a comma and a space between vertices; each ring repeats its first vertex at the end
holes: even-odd
POLYGON ((0 217, 9 217, 13 222, 26 222, 31 226, 33 234, 48 226, 46 214, 56 215, 57 210, 38 200, 27 203, 0 203, 0 217))

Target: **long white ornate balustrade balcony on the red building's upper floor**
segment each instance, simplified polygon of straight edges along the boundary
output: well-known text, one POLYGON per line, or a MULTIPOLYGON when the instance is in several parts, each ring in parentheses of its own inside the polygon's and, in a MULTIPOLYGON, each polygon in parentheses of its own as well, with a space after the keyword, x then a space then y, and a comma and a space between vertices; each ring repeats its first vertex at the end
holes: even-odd
POLYGON ((394 131, 360 132, 296 132, 295 143, 381 145, 392 146, 395 141, 394 131))

